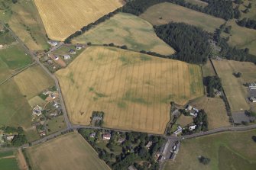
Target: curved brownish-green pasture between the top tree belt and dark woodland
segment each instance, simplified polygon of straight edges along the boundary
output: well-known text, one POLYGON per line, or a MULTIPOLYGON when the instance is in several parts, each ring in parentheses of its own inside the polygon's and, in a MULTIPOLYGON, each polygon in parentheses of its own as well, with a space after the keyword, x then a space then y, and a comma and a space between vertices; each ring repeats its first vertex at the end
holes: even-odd
POLYGON ((221 18, 215 18, 212 15, 194 11, 180 5, 174 5, 169 2, 151 6, 151 8, 148 8, 140 17, 153 25, 168 24, 170 21, 184 22, 186 24, 195 25, 196 27, 201 27, 203 30, 212 33, 216 27, 225 23, 225 20, 221 18))

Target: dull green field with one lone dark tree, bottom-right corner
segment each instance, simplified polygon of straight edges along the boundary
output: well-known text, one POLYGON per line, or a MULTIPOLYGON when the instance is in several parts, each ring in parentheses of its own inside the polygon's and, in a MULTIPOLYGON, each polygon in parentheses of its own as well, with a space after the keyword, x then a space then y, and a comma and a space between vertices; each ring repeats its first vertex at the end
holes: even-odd
POLYGON ((253 170, 256 166, 256 143, 251 139, 256 130, 219 133, 183 140, 175 162, 168 161, 164 169, 253 170), (209 165, 199 163, 199 156, 211 159, 209 165))

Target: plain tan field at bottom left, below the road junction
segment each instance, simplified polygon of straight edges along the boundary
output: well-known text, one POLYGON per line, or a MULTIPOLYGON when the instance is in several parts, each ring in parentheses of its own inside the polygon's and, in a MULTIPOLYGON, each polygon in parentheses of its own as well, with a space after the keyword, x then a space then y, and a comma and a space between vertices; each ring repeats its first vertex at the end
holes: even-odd
POLYGON ((110 169, 79 133, 68 133, 25 149, 33 169, 110 169))

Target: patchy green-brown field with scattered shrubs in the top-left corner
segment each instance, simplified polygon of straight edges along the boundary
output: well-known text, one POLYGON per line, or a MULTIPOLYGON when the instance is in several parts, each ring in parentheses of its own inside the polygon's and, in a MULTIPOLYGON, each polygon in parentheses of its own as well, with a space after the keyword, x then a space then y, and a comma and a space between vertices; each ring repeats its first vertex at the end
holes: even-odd
POLYGON ((16 4, 0 0, 0 20, 8 23, 31 50, 49 48, 46 31, 33 0, 19 0, 16 4))

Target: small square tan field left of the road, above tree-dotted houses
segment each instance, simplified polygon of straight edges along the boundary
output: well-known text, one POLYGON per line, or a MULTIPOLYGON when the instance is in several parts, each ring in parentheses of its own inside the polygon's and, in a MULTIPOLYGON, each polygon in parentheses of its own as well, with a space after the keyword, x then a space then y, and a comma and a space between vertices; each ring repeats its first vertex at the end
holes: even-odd
POLYGON ((53 79, 40 66, 31 66, 24 72, 16 75, 15 82, 20 88, 22 95, 26 95, 28 99, 54 85, 53 79))

